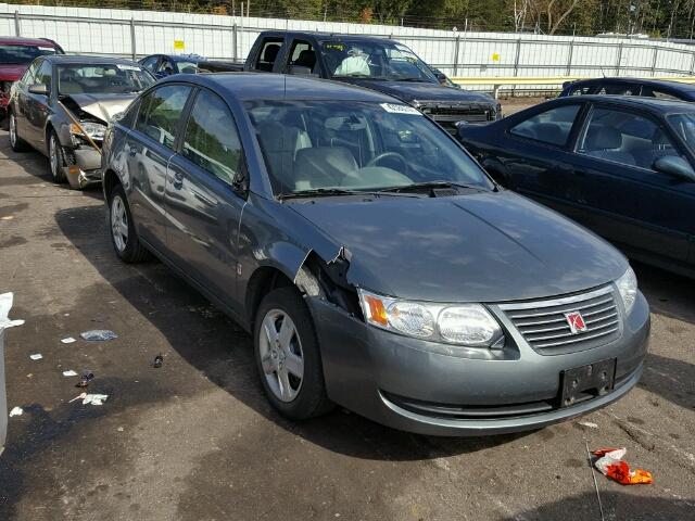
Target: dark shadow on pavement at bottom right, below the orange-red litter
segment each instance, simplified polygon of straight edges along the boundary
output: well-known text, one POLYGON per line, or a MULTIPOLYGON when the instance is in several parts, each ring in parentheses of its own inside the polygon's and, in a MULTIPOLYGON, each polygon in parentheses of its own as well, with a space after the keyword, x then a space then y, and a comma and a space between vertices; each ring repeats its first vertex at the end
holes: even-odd
MULTIPOLYGON (((629 521, 684 521, 693 519, 693 504, 679 499, 667 499, 664 497, 649 496, 648 485, 633 490, 631 494, 618 491, 605 491, 605 478, 597 475, 598 487, 602 490, 601 499, 605 519, 629 520, 629 521)), ((610 487, 618 487, 609 483, 610 487)), ((580 496, 570 497, 560 501, 549 503, 530 510, 525 510, 505 521, 516 521, 525 519, 528 521, 567 521, 576 520, 601 520, 601 510, 596 494, 587 493, 580 496)))

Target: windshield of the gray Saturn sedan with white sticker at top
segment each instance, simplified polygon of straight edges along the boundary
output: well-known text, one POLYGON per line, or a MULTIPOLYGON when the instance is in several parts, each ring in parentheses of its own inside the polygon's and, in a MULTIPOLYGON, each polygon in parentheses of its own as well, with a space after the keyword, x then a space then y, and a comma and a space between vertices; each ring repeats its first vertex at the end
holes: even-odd
POLYGON ((408 105, 256 101, 247 110, 276 195, 433 181, 493 188, 444 130, 408 105))

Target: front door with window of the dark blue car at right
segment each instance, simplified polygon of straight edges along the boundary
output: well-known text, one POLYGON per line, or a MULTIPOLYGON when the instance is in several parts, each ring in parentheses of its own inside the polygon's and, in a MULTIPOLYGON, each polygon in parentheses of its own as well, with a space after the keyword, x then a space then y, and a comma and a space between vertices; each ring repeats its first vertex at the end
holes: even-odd
POLYGON ((654 162, 665 155, 687 158, 662 122, 596 103, 577 140, 584 201, 578 219, 616 243, 684 262, 694 183, 656 171, 654 162))

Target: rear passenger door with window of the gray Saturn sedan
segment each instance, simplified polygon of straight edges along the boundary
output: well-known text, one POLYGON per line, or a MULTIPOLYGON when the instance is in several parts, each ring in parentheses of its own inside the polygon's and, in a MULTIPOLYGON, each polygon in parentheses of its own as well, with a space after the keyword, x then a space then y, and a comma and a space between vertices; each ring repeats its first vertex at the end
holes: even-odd
POLYGON ((132 219, 138 234, 163 252, 166 167, 174 155, 179 122, 191 91, 186 84, 164 84, 150 90, 141 98, 134 129, 126 137, 132 219))

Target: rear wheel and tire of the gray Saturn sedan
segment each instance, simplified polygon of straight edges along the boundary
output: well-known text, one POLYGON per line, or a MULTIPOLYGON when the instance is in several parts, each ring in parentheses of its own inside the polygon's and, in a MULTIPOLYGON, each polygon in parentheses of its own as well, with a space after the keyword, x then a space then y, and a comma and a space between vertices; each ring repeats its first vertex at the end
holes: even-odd
POLYGON ((109 230, 111 243, 124 263, 142 263, 150 258, 150 252, 138 240, 126 193, 116 185, 109 193, 109 230))

